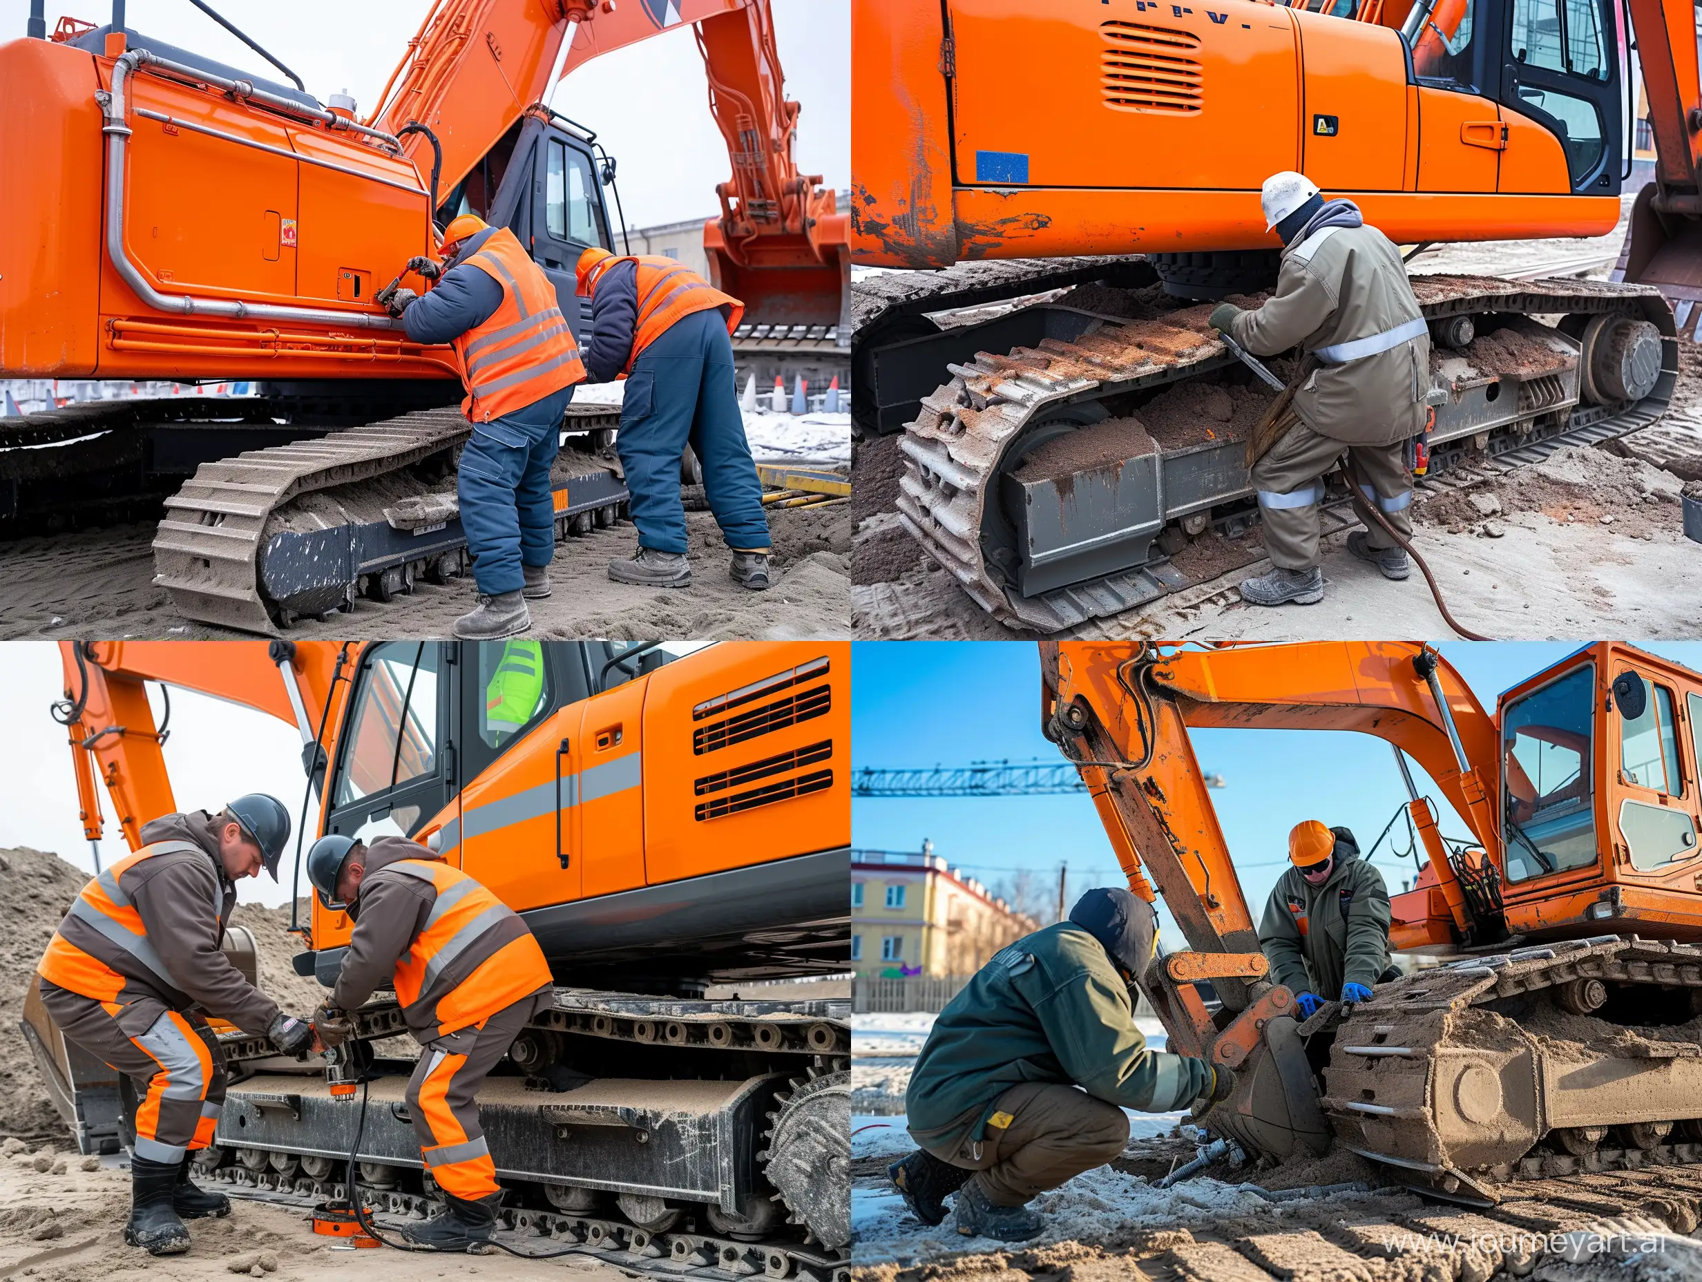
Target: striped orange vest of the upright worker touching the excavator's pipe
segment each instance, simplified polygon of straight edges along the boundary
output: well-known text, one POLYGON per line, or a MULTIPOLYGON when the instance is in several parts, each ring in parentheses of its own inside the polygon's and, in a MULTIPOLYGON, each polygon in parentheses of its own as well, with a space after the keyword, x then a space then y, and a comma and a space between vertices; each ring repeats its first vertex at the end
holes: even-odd
POLYGON ((543 267, 526 257, 512 232, 495 228, 463 262, 502 286, 502 305, 490 318, 449 344, 466 388, 461 414, 468 422, 500 419, 585 381, 579 344, 557 305, 555 286, 543 267))

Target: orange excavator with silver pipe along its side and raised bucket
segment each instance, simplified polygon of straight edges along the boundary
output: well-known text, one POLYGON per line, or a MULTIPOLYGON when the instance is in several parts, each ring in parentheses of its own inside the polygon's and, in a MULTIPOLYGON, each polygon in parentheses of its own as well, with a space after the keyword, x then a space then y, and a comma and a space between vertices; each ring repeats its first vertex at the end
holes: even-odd
MULTIPOLYGON (((0 376, 264 383, 3 421, 0 524, 163 499, 157 582, 191 618, 271 632, 465 570, 453 354, 408 342, 374 295, 470 211, 516 232, 585 335, 577 257, 625 250, 614 160, 545 100, 591 58, 694 27, 732 162, 710 272, 764 334, 841 322, 846 216, 793 163, 768 0, 434 0, 364 117, 150 39, 123 0, 51 37, 41 9, 0 44, 0 165, 31 175, 0 211, 0 376)), ((616 426, 568 410, 562 536, 620 516, 616 426)))

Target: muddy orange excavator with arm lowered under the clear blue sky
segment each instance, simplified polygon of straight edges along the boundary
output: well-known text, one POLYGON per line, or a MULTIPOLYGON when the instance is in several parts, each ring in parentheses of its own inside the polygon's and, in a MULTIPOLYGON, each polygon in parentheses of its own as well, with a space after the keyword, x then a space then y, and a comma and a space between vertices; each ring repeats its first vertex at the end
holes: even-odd
POLYGON ((1600 642, 1489 710, 1423 644, 1040 652, 1047 737, 1130 889, 1162 896, 1188 945, 1142 991, 1173 1050, 1237 1074, 1202 1125, 1271 1158, 1334 1144, 1479 1205, 1523 1178, 1702 1161, 1702 1059, 1680 1032, 1702 1013, 1702 674, 1600 642), (1297 1018, 1270 982, 1188 737, 1200 727, 1391 744, 1428 855, 1392 897, 1391 943, 1433 965, 1297 1018), (1467 838, 1442 836, 1409 761, 1467 838))

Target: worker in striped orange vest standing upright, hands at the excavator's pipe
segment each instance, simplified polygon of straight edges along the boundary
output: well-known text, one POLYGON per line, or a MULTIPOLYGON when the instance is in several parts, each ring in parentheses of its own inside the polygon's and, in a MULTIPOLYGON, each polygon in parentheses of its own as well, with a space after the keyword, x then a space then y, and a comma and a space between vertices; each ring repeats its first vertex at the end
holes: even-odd
POLYGON ((414 342, 454 349, 461 412, 473 424, 456 495, 478 584, 478 606, 454 621, 454 635, 499 640, 531 627, 528 599, 550 596, 550 466, 585 366, 555 286, 512 232, 461 215, 443 233, 443 264, 408 259, 407 269, 436 288, 424 296, 398 289, 390 313, 414 342))

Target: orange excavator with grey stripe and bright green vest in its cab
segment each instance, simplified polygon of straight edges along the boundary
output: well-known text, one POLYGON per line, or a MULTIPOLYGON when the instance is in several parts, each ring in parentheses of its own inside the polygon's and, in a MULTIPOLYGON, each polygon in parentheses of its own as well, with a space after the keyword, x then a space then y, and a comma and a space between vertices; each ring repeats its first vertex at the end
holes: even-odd
MULTIPOLYGON (((848 965, 849 645, 65 642, 61 657, 54 717, 90 841, 97 788, 131 850, 150 819, 223 804, 174 793, 160 683, 296 727, 322 833, 408 836, 526 919, 557 999, 480 1095, 507 1228, 628 1270, 846 1282, 849 1003, 705 993, 848 965)), ((330 984, 351 923, 308 902, 294 967, 330 984)), ((359 1054, 306 1062, 221 1030, 233 1085, 208 1178, 344 1199, 354 1110, 337 1088, 376 1073, 359 1183, 374 1212, 427 1209, 407 1066, 385 1073, 371 1049, 403 1030, 393 994, 356 1022, 359 1054)), ((26 1035, 80 1148, 114 1151, 116 1074, 39 1001, 26 1035)))

